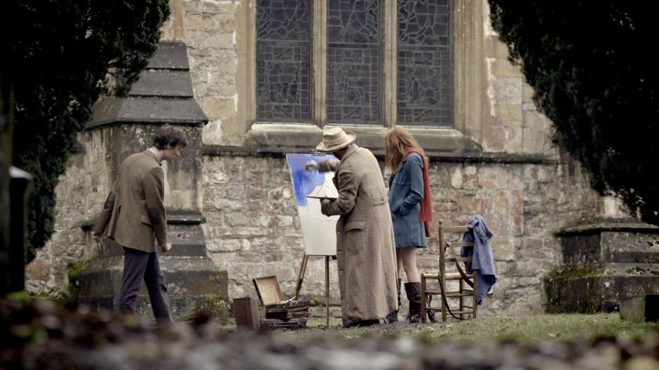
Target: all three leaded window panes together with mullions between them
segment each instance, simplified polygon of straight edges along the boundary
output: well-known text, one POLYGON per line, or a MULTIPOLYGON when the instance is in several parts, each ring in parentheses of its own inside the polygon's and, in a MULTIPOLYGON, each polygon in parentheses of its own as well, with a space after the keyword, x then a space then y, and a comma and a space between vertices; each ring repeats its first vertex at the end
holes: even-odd
POLYGON ((451 1, 257 0, 257 121, 313 122, 314 107, 327 123, 453 125, 451 1), (322 40, 313 39, 318 6, 327 15, 322 40), (387 39, 383 30, 393 25, 387 39), (393 60, 385 61, 388 43, 395 49, 388 46, 393 60), (386 62, 393 63, 388 75, 386 62), (313 96, 318 73, 322 100, 319 90, 313 96), (395 96, 389 119, 386 86, 395 96))

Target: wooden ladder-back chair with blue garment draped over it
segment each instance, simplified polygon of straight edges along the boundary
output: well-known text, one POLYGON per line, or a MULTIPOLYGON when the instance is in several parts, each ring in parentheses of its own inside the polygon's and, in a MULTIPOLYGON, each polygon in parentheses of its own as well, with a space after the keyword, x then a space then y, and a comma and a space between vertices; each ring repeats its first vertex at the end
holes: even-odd
POLYGON ((421 322, 426 322, 428 312, 434 317, 435 312, 442 311, 442 321, 447 320, 448 314, 458 320, 476 317, 475 273, 467 273, 464 268, 464 263, 470 262, 472 257, 460 256, 461 247, 474 245, 473 242, 462 241, 468 231, 467 226, 444 227, 443 221, 439 221, 439 268, 437 273, 421 274, 421 322), (428 287, 428 282, 433 281, 437 283, 437 289, 428 287), (439 307, 430 305, 435 301, 433 296, 440 301, 439 307))

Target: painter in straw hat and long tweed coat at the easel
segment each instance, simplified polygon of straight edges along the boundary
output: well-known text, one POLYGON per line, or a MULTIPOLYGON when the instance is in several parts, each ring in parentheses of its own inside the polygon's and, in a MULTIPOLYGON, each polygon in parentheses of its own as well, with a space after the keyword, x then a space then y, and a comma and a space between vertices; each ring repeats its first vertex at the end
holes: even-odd
POLYGON ((339 160, 309 163, 308 169, 335 171, 339 197, 323 199, 321 212, 339 214, 337 263, 341 313, 346 327, 379 324, 398 309, 395 242, 388 196, 373 154, 353 144, 355 134, 330 128, 316 149, 339 160))

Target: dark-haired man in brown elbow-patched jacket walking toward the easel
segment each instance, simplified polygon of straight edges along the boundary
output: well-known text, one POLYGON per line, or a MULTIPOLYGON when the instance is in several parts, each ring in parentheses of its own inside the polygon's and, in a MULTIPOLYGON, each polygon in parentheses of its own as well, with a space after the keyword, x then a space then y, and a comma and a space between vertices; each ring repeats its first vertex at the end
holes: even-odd
POLYGON ((92 231, 94 240, 106 233, 123 247, 119 309, 135 312, 135 299, 144 280, 158 322, 172 321, 167 285, 156 253, 156 245, 165 253, 171 249, 167 241, 161 161, 180 156, 186 145, 183 132, 164 126, 156 132, 151 148, 126 158, 92 231))

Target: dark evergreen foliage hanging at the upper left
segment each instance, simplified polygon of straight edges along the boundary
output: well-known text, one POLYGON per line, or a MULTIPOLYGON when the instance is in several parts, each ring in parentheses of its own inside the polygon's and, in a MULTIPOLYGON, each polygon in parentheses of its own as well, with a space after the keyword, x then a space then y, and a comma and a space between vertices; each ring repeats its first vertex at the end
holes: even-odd
POLYGON ((125 93, 156 50, 167 0, 10 0, 13 163, 34 175, 27 261, 53 233, 55 186, 104 93, 125 93))

